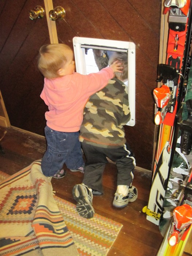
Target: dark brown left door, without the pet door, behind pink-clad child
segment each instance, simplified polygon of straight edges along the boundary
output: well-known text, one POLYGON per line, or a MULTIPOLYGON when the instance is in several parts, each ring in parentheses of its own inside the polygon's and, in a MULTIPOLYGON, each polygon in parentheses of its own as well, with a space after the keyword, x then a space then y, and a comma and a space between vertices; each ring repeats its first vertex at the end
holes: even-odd
POLYGON ((39 97, 44 78, 37 70, 41 45, 49 44, 46 16, 29 10, 43 0, 0 1, 0 90, 12 126, 44 135, 45 106, 39 97))

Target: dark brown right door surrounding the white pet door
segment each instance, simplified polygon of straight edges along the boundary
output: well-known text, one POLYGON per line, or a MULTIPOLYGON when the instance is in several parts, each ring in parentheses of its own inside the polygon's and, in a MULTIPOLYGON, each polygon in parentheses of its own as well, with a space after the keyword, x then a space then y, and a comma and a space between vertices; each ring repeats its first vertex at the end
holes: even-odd
MULTIPOLYGON (((59 3, 55 1, 56 5, 59 3)), ((60 42, 69 41, 72 47, 67 34, 71 38, 105 38, 136 44, 136 125, 125 127, 125 131, 136 164, 151 169, 155 128, 152 92, 157 86, 161 1, 152 5, 134 0, 88 0, 86 4, 83 0, 67 0, 63 7, 65 20, 56 22, 60 42)))

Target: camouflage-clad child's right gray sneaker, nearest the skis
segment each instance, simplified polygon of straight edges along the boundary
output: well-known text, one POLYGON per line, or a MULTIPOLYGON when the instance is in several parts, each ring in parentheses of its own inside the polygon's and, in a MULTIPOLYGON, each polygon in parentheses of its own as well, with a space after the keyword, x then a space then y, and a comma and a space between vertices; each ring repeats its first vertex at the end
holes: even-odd
POLYGON ((123 196, 122 194, 115 193, 113 206, 117 208, 123 208, 128 205, 129 202, 134 202, 138 198, 138 190, 136 187, 131 186, 129 188, 127 196, 123 196))

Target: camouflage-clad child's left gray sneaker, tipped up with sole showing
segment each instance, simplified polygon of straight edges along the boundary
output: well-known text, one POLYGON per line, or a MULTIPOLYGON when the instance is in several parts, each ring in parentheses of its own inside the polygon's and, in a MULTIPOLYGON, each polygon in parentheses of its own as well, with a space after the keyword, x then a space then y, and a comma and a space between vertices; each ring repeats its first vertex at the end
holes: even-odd
POLYGON ((92 206, 93 194, 89 188, 83 183, 77 184, 73 187, 72 193, 77 202, 76 209, 78 214, 86 219, 93 218, 95 213, 92 206))

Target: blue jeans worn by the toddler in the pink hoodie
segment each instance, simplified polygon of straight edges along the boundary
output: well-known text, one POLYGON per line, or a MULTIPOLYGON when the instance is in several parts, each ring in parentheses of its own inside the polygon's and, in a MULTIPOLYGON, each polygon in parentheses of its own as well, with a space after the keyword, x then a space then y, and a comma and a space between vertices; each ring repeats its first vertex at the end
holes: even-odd
POLYGON ((45 127, 47 150, 41 161, 41 169, 45 176, 53 176, 63 168, 78 169, 83 165, 79 132, 58 132, 45 127))

